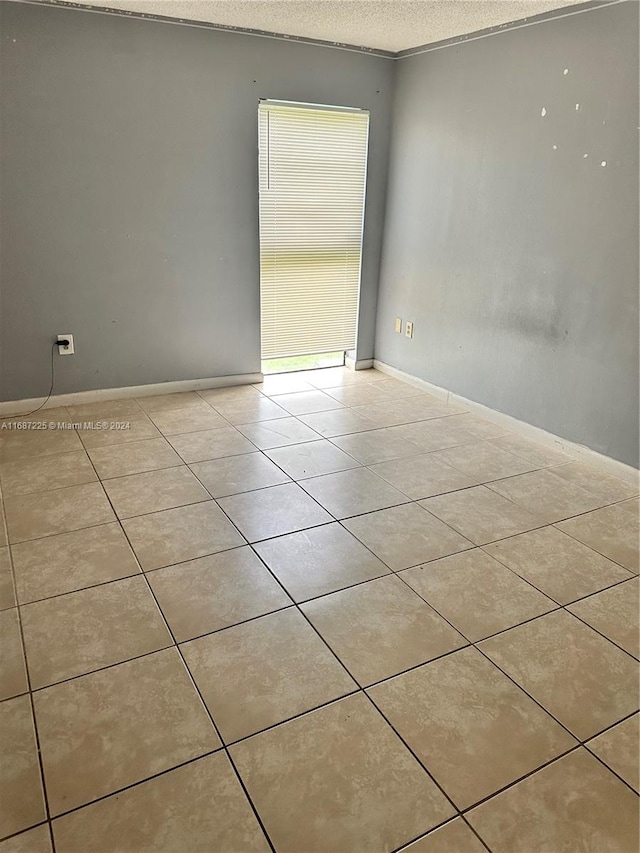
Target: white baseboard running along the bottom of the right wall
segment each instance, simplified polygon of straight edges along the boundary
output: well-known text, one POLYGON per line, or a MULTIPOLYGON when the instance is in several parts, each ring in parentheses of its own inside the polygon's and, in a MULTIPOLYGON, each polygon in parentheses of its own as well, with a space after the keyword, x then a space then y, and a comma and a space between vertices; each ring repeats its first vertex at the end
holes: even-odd
POLYGON ((540 427, 528 424, 526 421, 518 420, 511 415, 506 415, 504 412, 498 412, 496 409, 490 409, 482 403, 476 403, 474 400, 468 400, 466 397, 461 397, 459 394, 454 394, 446 388, 441 388, 439 385, 433 385, 424 379, 419 379, 417 376, 412 376, 410 373, 405 373, 403 370, 398 370, 396 367, 391 367, 383 361, 374 359, 373 366, 381 373, 386 373, 396 379, 402 379, 416 388, 422 388, 434 397, 439 397, 448 403, 454 403, 458 406, 464 406, 471 412, 475 412, 488 421, 492 421, 505 429, 515 432, 523 438, 528 438, 531 441, 536 441, 544 447, 549 447, 553 450, 559 450, 561 453, 566 453, 568 456, 574 457, 576 461, 584 462, 586 465, 591 465, 594 468, 602 471, 604 474, 609 474, 612 477, 618 477, 631 485, 638 485, 638 477, 640 472, 632 465, 627 465, 624 462, 619 462, 617 459, 612 459, 610 456, 605 456, 604 453, 598 453, 590 447, 585 447, 582 444, 575 444, 566 438, 561 438, 559 435, 554 435, 540 427))

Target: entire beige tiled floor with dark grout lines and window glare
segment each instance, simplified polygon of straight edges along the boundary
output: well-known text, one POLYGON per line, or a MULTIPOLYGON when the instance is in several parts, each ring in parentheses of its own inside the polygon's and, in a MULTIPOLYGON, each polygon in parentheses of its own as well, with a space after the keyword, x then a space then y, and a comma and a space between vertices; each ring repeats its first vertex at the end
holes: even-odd
POLYGON ((637 486, 373 370, 26 420, 130 428, 0 422, 0 853, 637 853, 637 486))

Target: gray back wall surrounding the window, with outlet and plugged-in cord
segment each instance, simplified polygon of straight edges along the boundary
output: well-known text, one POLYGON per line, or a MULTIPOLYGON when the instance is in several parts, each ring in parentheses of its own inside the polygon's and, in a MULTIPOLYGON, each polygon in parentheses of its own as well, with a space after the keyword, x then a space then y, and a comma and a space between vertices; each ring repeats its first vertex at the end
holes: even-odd
POLYGON ((373 355, 394 62, 0 4, 0 399, 260 369, 259 97, 371 110, 358 358, 373 355))

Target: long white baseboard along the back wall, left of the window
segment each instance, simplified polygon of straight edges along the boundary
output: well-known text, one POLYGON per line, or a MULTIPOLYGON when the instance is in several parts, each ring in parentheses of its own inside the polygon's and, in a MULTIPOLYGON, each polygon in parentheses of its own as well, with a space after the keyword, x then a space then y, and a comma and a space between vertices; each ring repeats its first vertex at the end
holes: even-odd
MULTIPOLYGON (((100 388, 95 391, 74 391, 51 397, 42 411, 55 406, 74 406, 79 403, 98 403, 106 400, 124 400, 129 397, 150 397, 153 394, 175 394, 178 391, 204 391, 208 388, 226 388, 229 385, 251 385, 262 382, 262 373, 240 373, 236 376, 216 376, 210 379, 181 379, 177 382, 156 382, 152 385, 128 385, 124 388, 100 388)), ((29 400, 9 400, 0 403, 0 415, 29 412, 42 403, 42 397, 29 400)))

